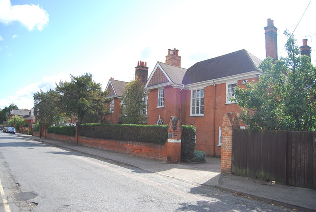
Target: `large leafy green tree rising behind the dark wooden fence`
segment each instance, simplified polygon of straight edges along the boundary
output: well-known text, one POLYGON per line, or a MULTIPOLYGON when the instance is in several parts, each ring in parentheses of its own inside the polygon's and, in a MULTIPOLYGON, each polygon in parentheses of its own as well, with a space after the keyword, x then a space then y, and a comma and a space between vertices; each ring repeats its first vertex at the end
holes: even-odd
POLYGON ((249 129, 316 129, 316 68, 308 56, 300 56, 294 35, 284 34, 288 56, 266 58, 259 81, 236 90, 241 119, 249 129))

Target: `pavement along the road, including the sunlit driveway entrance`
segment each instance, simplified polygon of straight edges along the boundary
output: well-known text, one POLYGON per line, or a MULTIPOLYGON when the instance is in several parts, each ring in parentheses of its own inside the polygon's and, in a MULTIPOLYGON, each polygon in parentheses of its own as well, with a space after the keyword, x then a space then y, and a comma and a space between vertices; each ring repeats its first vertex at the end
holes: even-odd
POLYGON ((277 182, 273 184, 272 182, 230 174, 221 174, 220 158, 207 157, 205 163, 171 164, 31 135, 20 133, 16 135, 48 143, 70 151, 106 159, 118 164, 138 167, 146 171, 174 177, 179 180, 212 186, 220 190, 232 192, 235 195, 285 206, 294 211, 316 212, 316 190, 279 185, 277 182))

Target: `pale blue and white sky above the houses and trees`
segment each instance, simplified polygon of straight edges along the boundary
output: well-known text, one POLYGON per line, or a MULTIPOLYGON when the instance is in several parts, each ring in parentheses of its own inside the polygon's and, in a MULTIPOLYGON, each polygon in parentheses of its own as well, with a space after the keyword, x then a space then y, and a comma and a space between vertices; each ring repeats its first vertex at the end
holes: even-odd
POLYGON ((240 49, 263 60, 268 18, 279 57, 295 29, 315 65, 316 0, 0 0, 0 108, 31 109, 35 92, 70 74, 91 73, 103 89, 110 77, 131 81, 138 61, 150 75, 173 48, 183 68, 240 49))

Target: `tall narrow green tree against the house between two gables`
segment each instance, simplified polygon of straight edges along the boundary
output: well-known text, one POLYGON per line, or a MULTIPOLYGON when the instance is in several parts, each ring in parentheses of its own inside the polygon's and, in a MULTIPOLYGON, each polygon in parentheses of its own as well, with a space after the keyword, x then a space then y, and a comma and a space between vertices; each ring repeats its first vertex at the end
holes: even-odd
POLYGON ((122 118, 126 124, 146 123, 147 94, 144 84, 135 79, 125 86, 123 96, 122 118))

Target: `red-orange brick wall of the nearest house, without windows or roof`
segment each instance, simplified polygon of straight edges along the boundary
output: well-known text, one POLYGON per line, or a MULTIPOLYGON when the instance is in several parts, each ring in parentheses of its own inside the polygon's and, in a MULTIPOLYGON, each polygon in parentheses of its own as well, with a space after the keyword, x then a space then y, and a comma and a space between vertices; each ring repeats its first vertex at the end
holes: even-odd
MULTIPOLYGON (((249 82, 257 82, 258 78, 246 79, 249 82)), ((238 80, 238 86, 242 85, 238 80)), ((176 89, 171 86, 165 87, 164 107, 157 108, 158 89, 150 90, 148 95, 148 124, 156 124, 159 115, 164 124, 170 116, 179 116, 182 124, 196 127, 196 150, 201 150, 208 156, 220 156, 221 146, 218 146, 219 127, 223 123, 226 113, 237 113, 241 109, 237 103, 226 104, 226 83, 209 85, 204 88, 204 116, 190 116, 191 91, 176 89), (181 95, 181 98, 180 98, 181 95), (181 105, 180 105, 181 102, 181 105), (181 110, 181 114, 180 114, 181 110)), ((240 126, 244 126, 240 123, 240 126)))

